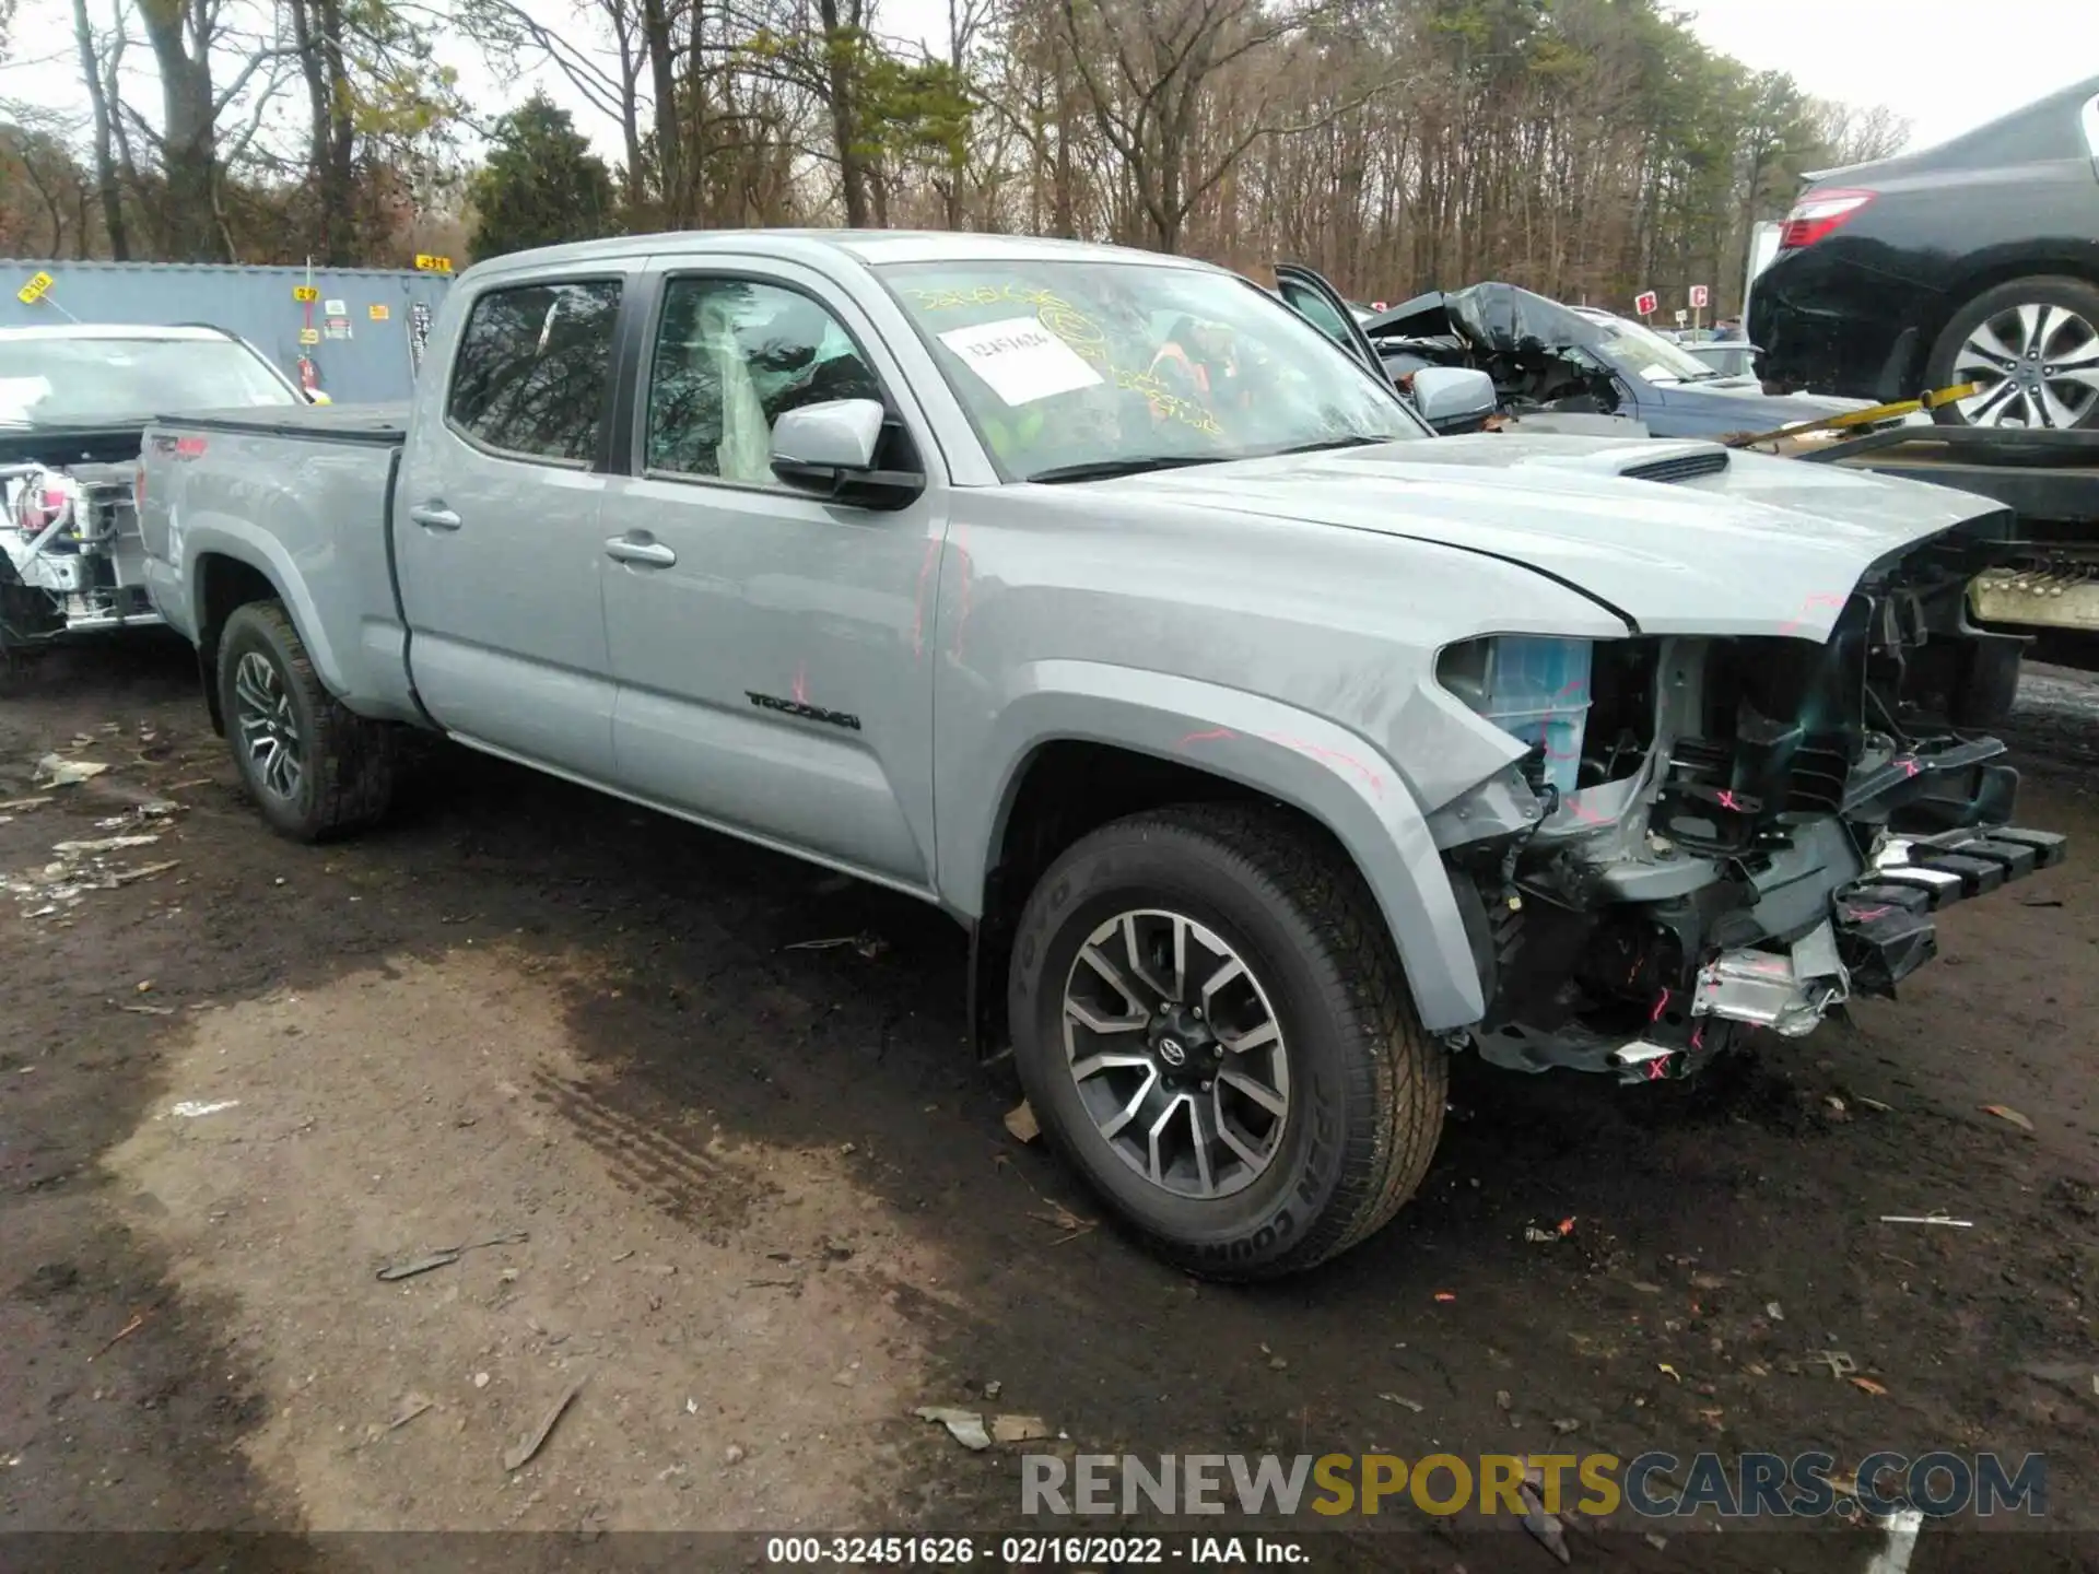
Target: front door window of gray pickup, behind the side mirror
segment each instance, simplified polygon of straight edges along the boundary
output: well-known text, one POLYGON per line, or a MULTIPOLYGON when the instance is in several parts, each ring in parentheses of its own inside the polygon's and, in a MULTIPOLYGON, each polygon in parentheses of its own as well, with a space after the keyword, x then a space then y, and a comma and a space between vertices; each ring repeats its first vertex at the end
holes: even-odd
POLYGON ((821 302, 754 279, 663 288, 649 367, 649 470, 779 485, 772 422, 829 399, 882 399, 882 382, 821 302))

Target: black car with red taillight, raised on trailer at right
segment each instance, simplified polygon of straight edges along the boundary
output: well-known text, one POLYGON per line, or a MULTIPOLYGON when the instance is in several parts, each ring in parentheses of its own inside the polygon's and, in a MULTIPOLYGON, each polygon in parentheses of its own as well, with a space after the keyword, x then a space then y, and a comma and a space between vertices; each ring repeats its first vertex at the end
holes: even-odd
POLYGON ((1751 292, 1776 388, 1969 426, 2099 428, 2099 78, 1939 147, 1830 170, 1751 292))

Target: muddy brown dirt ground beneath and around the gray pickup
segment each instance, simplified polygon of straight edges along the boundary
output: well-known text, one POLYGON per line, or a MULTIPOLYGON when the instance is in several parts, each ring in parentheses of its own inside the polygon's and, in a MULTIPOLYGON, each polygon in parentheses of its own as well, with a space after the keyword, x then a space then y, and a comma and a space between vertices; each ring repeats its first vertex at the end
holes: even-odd
MULTIPOLYGON (((2036 669, 2013 730, 2070 867, 1952 913, 1902 1003, 1688 1093, 1473 1068, 1390 1230, 1232 1291, 1008 1135, 936 913, 449 749, 380 831, 296 848, 181 646, 48 659, 0 690, 0 800, 48 751, 109 770, 0 808, 0 1549, 537 1530, 558 1566, 617 1530, 1024 1528, 1020 1450, 921 1404, 1066 1452, 2044 1452, 2051 1524, 2093 1530, 2095 693, 2036 669), (113 835, 157 839, 52 850, 113 835), (1973 1228, 1879 1221, 1933 1211, 1973 1228)), ((1520 1530, 1390 1528, 1421 1534, 1316 1566, 1553 1566, 1520 1530)), ((1574 1564, 1881 1545, 1667 1530, 1574 1564)), ((2095 1547, 1929 1528, 1910 1568, 2095 1547)))

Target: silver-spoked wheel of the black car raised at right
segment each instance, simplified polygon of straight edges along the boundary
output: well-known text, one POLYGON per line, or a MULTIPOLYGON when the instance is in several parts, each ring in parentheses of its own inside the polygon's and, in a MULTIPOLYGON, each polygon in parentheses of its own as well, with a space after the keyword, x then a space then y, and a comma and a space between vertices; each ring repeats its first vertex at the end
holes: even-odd
POLYGON ((1935 411, 1948 426, 2099 428, 2099 288, 2082 279, 2013 279, 1946 323, 1927 388, 1977 384, 1935 411))

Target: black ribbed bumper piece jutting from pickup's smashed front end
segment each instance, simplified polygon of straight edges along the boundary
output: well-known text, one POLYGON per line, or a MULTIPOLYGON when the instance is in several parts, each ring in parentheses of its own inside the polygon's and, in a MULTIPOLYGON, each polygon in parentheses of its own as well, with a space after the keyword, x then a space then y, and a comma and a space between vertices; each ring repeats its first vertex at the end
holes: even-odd
POLYGON ((1860 995, 1891 997, 1895 984, 1937 955, 1937 911, 1986 896, 2036 869, 2063 863, 2055 831, 2002 827, 1897 837, 1835 902, 1837 949, 1860 995))

